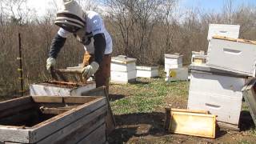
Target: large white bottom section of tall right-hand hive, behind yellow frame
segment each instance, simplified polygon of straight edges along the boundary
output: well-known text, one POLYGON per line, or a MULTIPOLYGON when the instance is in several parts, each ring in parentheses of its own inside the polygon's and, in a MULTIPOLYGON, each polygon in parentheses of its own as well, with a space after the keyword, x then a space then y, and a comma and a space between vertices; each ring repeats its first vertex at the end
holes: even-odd
POLYGON ((209 110, 218 122, 238 128, 245 78, 191 70, 188 109, 209 110))

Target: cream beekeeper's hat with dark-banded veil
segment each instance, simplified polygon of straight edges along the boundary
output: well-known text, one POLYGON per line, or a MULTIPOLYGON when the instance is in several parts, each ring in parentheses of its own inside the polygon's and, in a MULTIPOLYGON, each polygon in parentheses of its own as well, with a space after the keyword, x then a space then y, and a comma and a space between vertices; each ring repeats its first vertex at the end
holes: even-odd
POLYGON ((78 2, 60 0, 55 24, 71 33, 85 27, 85 13, 78 2))

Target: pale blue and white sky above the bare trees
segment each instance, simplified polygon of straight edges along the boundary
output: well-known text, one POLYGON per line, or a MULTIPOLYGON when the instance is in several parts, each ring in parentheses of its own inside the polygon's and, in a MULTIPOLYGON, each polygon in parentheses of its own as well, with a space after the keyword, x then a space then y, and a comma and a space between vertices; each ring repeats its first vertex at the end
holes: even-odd
MULTIPOLYGON (((179 7, 183 10, 199 7, 206 11, 220 12, 225 0, 179 0, 179 7)), ((39 16, 46 14, 46 9, 53 7, 53 0, 28 0, 28 6, 34 8, 39 16)), ((256 6, 256 0, 233 0, 234 6, 242 4, 256 6)))

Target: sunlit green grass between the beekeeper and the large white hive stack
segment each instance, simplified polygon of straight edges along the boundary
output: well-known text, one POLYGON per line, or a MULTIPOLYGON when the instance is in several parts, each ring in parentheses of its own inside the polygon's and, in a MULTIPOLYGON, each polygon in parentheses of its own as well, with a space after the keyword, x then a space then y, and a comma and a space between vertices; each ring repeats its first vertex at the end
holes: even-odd
MULTIPOLYGON (((166 98, 187 98, 189 82, 165 82, 163 78, 139 78, 138 82, 123 86, 130 96, 111 102, 114 114, 149 113, 164 106, 166 98)), ((120 87, 121 88, 121 87, 120 87)))

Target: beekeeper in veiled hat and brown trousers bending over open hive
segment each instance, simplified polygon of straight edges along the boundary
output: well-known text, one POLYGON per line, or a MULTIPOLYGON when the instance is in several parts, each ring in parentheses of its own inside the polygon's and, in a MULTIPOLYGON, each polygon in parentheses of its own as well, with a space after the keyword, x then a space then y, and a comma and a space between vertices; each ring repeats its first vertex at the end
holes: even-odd
POLYGON ((84 46, 83 69, 87 79, 94 74, 96 86, 106 86, 110 78, 112 39, 107 32, 101 16, 94 11, 84 11, 74 0, 62 0, 55 24, 60 26, 52 40, 46 69, 56 65, 56 58, 66 38, 73 34, 84 46))

